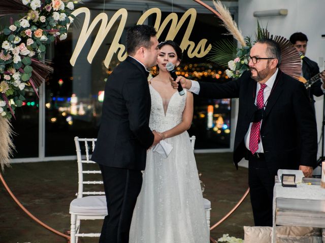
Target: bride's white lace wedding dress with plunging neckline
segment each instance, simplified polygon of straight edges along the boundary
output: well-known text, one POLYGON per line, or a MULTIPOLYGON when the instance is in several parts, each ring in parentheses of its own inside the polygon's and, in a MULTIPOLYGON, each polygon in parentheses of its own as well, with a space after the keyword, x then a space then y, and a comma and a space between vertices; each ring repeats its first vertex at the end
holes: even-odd
MULTIPOLYGON (((166 114, 163 99, 151 85, 150 94, 150 128, 164 132, 177 126, 182 120, 186 92, 171 97, 166 114)), ((167 158, 152 152, 152 148, 147 152, 129 243, 208 243, 201 185, 188 133, 165 141, 173 146, 167 158)))

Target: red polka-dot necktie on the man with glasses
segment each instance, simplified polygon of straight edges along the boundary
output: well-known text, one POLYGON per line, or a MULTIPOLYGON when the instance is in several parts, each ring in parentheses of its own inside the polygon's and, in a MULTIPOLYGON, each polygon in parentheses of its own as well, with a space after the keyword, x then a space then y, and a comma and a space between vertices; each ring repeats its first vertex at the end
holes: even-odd
MULTIPOLYGON (((264 89, 266 88, 266 84, 261 85, 261 89, 259 89, 257 93, 257 109, 263 109, 264 106, 264 89)), ((259 141, 259 127, 261 126, 261 120, 257 121, 257 123, 252 123, 252 127, 250 129, 249 135, 249 150, 252 154, 254 154, 258 149, 258 141, 259 141)))

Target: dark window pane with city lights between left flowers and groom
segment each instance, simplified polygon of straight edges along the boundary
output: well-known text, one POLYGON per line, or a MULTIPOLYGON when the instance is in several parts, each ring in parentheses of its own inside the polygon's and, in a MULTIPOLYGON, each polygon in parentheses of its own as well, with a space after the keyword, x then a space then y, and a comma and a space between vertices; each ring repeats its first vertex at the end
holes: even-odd
MULTIPOLYGON (((91 10, 95 18, 103 10, 91 10)), ((110 18, 116 11, 105 11, 110 18)), ((125 32, 134 26, 142 12, 127 11, 127 22, 120 43, 125 45, 125 32)), ((105 37, 92 63, 87 56, 99 31, 98 24, 86 41, 74 66, 70 64, 83 25, 84 15, 77 16, 69 29, 68 38, 57 42, 48 58, 53 62, 54 73, 46 83, 45 156, 74 155, 75 136, 97 137, 102 112, 104 87, 107 77, 118 64, 114 54, 107 69, 104 60, 112 44, 119 21, 105 37)), ((91 23, 91 21, 90 21, 91 23)), ((101 22, 100 22, 101 23, 101 22)))

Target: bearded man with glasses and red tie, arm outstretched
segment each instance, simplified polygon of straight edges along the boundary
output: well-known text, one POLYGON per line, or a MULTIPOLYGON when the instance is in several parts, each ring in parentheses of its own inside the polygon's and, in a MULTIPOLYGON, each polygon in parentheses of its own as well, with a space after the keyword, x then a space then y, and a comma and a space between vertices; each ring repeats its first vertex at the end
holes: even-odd
MULTIPOLYGON (((201 97, 239 98, 234 162, 249 161, 248 184, 256 226, 272 226, 274 177, 278 169, 312 175, 317 156, 317 130, 303 83, 279 68, 281 50, 261 39, 250 50, 249 68, 225 84, 196 82, 179 76, 183 88, 201 97), (299 141, 303 141, 301 147, 299 141), (299 152, 298 150, 301 149, 299 152)), ((174 88, 178 83, 172 82, 174 88)))

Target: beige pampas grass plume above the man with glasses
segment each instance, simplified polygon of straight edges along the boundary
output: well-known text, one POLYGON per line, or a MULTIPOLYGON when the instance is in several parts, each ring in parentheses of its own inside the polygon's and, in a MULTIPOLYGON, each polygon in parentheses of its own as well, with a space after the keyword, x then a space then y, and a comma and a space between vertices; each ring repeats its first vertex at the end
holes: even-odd
POLYGON ((237 41, 242 47, 245 47, 246 43, 244 40, 244 36, 242 35, 241 31, 238 29, 237 23, 233 20, 233 17, 229 12, 229 9, 223 6, 223 4, 221 4, 219 0, 213 0, 213 4, 221 16, 220 19, 223 22, 222 25, 229 31, 231 35, 234 36, 235 39, 237 39, 237 41))

